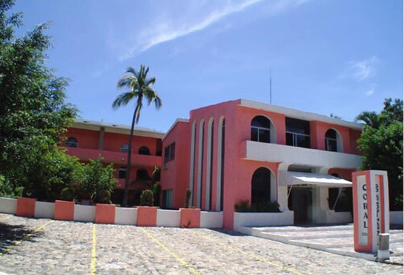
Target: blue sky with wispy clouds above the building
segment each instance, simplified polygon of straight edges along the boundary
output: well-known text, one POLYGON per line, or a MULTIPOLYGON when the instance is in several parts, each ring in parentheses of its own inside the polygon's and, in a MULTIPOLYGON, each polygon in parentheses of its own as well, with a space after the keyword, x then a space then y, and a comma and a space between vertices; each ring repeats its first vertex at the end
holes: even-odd
MULTIPOLYGON (((128 66, 150 66, 163 107, 139 126, 167 131, 189 110, 237 98, 352 121, 403 98, 401 0, 19 0, 23 31, 52 21, 48 66, 71 80, 86 119, 130 124, 112 110, 128 66)), ((21 33, 21 32, 20 32, 21 33)))

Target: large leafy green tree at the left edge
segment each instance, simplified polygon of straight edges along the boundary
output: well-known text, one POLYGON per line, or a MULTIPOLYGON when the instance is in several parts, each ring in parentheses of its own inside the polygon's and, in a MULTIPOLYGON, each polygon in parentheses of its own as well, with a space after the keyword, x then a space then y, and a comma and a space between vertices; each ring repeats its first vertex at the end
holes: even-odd
POLYGON ((40 159, 58 154, 54 148, 77 110, 65 103, 67 79, 46 67, 49 24, 16 37, 22 13, 7 16, 13 5, 14 0, 0 0, 0 174, 30 194, 30 177, 39 163, 46 164, 40 159))

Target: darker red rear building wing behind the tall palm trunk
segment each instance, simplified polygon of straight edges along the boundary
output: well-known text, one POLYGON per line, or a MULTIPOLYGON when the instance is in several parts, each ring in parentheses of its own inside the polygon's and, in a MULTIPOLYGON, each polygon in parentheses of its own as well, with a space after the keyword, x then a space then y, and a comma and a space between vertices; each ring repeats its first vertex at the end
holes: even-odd
MULTIPOLYGON (((67 154, 81 161, 103 158, 103 163, 113 164, 118 178, 118 187, 113 201, 121 202, 127 171, 128 141, 130 126, 76 119, 67 129, 65 146, 67 154)), ((139 204, 141 190, 150 189, 155 166, 162 163, 162 138, 164 133, 136 127, 132 143, 129 200, 130 205, 139 204)))

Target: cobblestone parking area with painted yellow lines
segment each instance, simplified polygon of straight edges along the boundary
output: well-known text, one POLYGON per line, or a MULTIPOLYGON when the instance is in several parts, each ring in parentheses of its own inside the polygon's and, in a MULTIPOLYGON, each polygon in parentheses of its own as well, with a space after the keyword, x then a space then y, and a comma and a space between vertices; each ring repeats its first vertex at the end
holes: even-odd
POLYGON ((403 266, 232 232, 94 225, 0 214, 2 274, 389 275, 403 274, 403 266))

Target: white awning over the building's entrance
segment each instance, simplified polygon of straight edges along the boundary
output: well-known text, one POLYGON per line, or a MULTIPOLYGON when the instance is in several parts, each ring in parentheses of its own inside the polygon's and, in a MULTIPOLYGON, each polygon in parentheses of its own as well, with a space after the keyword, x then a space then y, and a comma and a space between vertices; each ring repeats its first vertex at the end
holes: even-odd
POLYGON ((352 187, 352 182, 331 175, 303 172, 279 172, 279 185, 315 185, 321 187, 352 187))

